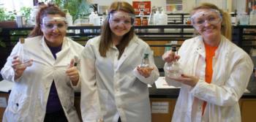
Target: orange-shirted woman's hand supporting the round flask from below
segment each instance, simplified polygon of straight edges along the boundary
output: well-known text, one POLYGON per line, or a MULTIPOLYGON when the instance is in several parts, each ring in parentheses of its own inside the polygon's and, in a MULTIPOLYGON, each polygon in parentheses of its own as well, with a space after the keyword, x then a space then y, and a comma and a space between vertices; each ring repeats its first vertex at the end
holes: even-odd
POLYGON ((176 80, 180 83, 184 83, 186 85, 190 85, 192 87, 194 87, 197 84, 198 80, 199 80, 198 77, 190 76, 190 75, 184 75, 184 74, 182 74, 181 77, 177 77, 177 78, 168 77, 168 78, 170 78, 171 80, 176 80))

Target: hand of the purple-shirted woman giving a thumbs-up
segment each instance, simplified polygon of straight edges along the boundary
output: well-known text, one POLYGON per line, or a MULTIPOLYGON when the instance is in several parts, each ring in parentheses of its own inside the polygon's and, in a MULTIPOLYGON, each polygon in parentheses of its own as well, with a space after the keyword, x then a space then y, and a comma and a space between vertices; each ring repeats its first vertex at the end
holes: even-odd
POLYGON ((67 68, 67 71, 66 71, 66 74, 69 77, 69 79, 72 81, 73 85, 78 84, 80 75, 79 75, 77 67, 75 66, 75 59, 72 59, 70 61, 69 67, 67 68))

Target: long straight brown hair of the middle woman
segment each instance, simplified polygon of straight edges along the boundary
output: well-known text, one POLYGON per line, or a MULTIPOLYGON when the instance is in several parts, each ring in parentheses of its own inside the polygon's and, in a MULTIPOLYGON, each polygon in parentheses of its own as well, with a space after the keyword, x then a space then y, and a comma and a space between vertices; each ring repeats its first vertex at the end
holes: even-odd
MULTIPOLYGON (((106 53, 110 49, 110 45, 113 44, 113 42, 111 40, 112 39, 111 38, 112 31, 110 30, 110 25, 108 22, 109 18, 110 18, 109 15, 111 12, 115 12, 118 10, 128 12, 130 14, 135 15, 135 10, 133 9, 132 5, 130 5, 129 3, 125 2, 125 1, 116 1, 110 5, 108 17, 105 19, 105 22, 102 25, 102 32, 100 35, 99 53, 100 53, 100 56, 102 56, 102 57, 106 57, 106 53)), ((132 23, 133 22, 134 22, 134 20, 132 20, 132 23)), ((129 44, 129 41, 134 36, 135 36, 135 31, 134 31, 134 27, 132 26, 132 28, 130 28, 129 32, 123 36, 121 43, 119 43, 119 45, 116 46, 119 50, 118 58, 120 58, 122 53, 124 53, 125 47, 127 47, 127 45, 129 44)))

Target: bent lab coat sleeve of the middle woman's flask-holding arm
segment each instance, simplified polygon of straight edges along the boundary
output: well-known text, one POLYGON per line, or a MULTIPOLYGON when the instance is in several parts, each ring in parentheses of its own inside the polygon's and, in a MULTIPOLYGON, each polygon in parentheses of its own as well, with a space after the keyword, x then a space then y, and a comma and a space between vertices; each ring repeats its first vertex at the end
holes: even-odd
MULTIPOLYGON (((147 47, 146 52, 151 52, 150 47, 147 47)), ((154 68, 151 72, 151 75, 149 77, 144 77, 143 75, 140 75, 137 68, 133 69, 133 75, 135 75, 135 77, 137 77, 141 82, 152 85, 158 79, 159 71, 157 66, 154 64, 153 54, 152 53, 149 53, 149 54, 150 54, 148 56, 149 64, 154 68)))

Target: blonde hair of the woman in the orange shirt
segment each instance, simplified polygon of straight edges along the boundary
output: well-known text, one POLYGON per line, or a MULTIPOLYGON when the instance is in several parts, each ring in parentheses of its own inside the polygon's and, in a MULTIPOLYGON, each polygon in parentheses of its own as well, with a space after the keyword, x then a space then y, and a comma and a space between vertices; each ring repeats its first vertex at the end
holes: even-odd
POLYGON ((192 12, 190 12, 190 15, 194 15, 195 11, 197 9, 217 9, 219 11, 220 15, 222 15, 222 28, 221 28, 222 35, 225 36, 229 40, 232 39, 231 20, 230 20, 230 15, 227 12, 224 12, 222 9, 219 9, 214 4, 203 3, 203 4, 200 4, 200 6, 192 9, 192 12))

